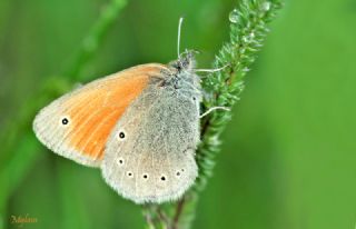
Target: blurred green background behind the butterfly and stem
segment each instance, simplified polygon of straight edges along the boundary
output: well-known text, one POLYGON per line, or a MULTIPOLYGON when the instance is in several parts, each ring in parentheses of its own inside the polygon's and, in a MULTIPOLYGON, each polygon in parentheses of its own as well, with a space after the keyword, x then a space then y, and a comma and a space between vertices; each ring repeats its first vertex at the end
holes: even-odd
MULTIPOLYGON (((0 1, 1 135, 41 83, 71 64, 107 2, 0 1)), ((285 3, 246 77, 192 228, 355 228, 356 2, 285 3)), ((128 1, 80 82, 175 59, 180 16, 181 46, 199 50, 199 67, 208 68, 236 4, 128 1)), ((26 127, 24 140, 12 139, 16 150, 0 148, 0 172, 12 171, 0 175, 0 228, 18 228, 10 217, 26 213, 38 223, 24 228, 142 228, 140 207, 117 196, 99 170, 46 150, 26 127)))

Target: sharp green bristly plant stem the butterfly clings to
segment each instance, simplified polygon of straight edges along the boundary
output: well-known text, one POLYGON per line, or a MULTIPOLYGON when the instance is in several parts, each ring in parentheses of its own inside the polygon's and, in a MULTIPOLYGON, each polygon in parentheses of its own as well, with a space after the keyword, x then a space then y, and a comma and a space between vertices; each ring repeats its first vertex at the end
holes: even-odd
MULTIPOLYGON (((212 107, 233 108, 244 89, 243 79, 268 33, 267 23, 280 8, 280 0, 241 0, 239 7, 231 11, 230 41, 221 47, 214 62, 214 68, 228 67, 202 81, 202 88, 209 94, 204 99, 204 110, 212 107)), ((212 173, 214 158, 220 151, 219 136, 230 119, 231 112, 217 110, 201 120, 201 142, 196 157, 199 176, 195 186, 178 202, 157 207, 167 213, 172 212, 168 228, 190 227, 198 192, 212 173)), ((155 217, 155 212, 148 213, 155 217)), ((157 221, 156 228, 159 228, 159 219, 157 221)))

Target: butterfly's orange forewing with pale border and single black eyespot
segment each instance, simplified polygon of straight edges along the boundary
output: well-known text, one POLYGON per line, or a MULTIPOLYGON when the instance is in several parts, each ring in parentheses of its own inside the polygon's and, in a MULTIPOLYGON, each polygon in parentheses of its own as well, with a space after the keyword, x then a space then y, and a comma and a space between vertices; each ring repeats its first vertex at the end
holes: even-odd
POLYGON ((99 166, 111 130, 164 64, 137 66, 92 81, 43 108, 33 121, 49 149, 86 166, 99 166))

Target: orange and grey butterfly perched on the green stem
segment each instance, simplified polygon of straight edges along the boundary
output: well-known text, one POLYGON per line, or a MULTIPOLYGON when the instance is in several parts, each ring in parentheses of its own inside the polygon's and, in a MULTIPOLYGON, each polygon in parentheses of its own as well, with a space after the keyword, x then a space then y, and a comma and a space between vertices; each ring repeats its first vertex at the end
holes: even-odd
POLYGON ((36 116, 37 138, 53 152, 101 169, 137 203, 176 200, 198 176, 202 90, 194 51, 168 64, 140 64, 60 97, 36 116))

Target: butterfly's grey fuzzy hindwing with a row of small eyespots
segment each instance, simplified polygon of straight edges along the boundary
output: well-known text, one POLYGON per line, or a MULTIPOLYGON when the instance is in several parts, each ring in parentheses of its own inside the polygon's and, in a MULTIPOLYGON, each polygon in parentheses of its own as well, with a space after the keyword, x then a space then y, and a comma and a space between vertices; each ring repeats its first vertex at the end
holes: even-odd
POLYGON ((198 175, 200 98, 195 74, 151 80, 109 137, 101 165, 106 181, 138 203, 179 198, 198 175))

